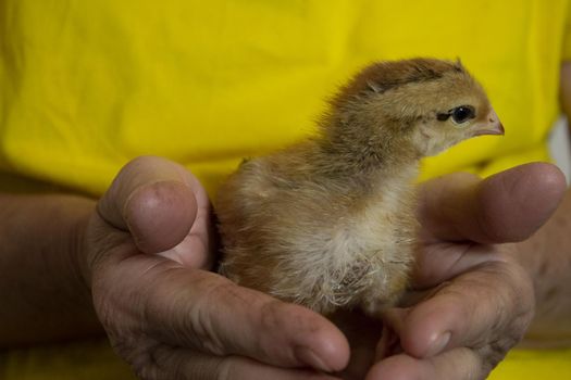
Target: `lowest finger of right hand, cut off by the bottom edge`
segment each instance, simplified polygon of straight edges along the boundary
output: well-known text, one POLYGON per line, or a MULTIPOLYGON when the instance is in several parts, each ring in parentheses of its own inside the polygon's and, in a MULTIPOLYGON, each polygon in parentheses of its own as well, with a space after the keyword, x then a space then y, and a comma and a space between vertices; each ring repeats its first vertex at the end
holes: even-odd
POLYGON ((371 367, 365 380, 482 380, 492 369, 475 352, 462 347, 425 359, 390 356, 371 367))

